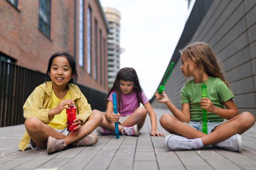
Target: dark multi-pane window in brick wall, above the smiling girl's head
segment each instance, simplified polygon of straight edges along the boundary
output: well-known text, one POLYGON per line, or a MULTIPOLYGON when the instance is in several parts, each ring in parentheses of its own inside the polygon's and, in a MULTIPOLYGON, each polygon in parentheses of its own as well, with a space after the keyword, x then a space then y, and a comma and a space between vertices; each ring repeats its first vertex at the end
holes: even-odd
POLYGON ((39 30, 50 37, 51 1, 40 0, 39 2, 39 30))

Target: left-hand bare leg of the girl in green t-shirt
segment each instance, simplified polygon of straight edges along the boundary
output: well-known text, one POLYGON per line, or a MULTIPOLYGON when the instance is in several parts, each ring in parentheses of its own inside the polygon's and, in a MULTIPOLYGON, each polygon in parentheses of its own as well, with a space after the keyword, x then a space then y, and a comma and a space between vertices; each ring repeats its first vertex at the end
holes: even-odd
POLYGON ((169 133, 184 136, 189 139, 201 138, 207 136, 205 133, 180 122, 176 117, 166 113, 160 118, 161 126, 169 133))

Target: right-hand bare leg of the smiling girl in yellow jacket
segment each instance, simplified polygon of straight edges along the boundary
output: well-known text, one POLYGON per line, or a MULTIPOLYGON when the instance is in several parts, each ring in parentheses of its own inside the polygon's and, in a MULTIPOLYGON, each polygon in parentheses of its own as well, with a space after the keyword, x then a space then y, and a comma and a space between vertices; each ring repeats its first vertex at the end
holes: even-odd
POLYGON ((103 118, 100 113, 92 114, 90 117, 88 117, 86 122, 83 125, 81 125, 77 132, 72 132, 68 136, 65 136, 65 143, 71 144, 72 142, 81 139, 82 137, 86 136, 87 134, 95 130, 96 127, 101 125, 102 121, 103 118))

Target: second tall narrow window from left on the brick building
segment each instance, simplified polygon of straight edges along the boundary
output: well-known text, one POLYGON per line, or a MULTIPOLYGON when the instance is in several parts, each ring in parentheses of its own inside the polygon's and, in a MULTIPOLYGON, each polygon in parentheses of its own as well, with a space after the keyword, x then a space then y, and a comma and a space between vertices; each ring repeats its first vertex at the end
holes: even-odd
POLYGON ((91 26, 90 26, 91 10, 87 9, 87 73, 91 74, 91 26))

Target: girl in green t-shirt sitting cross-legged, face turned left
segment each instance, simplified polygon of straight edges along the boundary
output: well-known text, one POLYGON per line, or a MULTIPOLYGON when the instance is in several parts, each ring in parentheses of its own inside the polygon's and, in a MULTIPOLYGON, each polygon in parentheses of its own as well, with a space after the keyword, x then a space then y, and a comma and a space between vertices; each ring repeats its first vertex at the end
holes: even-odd
POLYGON ((212 145, 241 151, 240 135, 254 125, 255 118, 249 112, 239 114, 215 52, 205 42, 193 42, 180 50, 180 54, 182 74, 187 79, 192 77, 180 91, 181 111, 164 92, 154 94, 157 102, 165 103, 174 115, 164 114, 160 118, 161 126, 171 133, 166 136, 165 146, 171 150, 192 150, 212 145), (202 85, 207 85, 204 98, 201 98, 202 85), (208 135, 202 133, 202 109, 208 114, 208 135), (228 121, 223 123, 224 119, 228 121))

